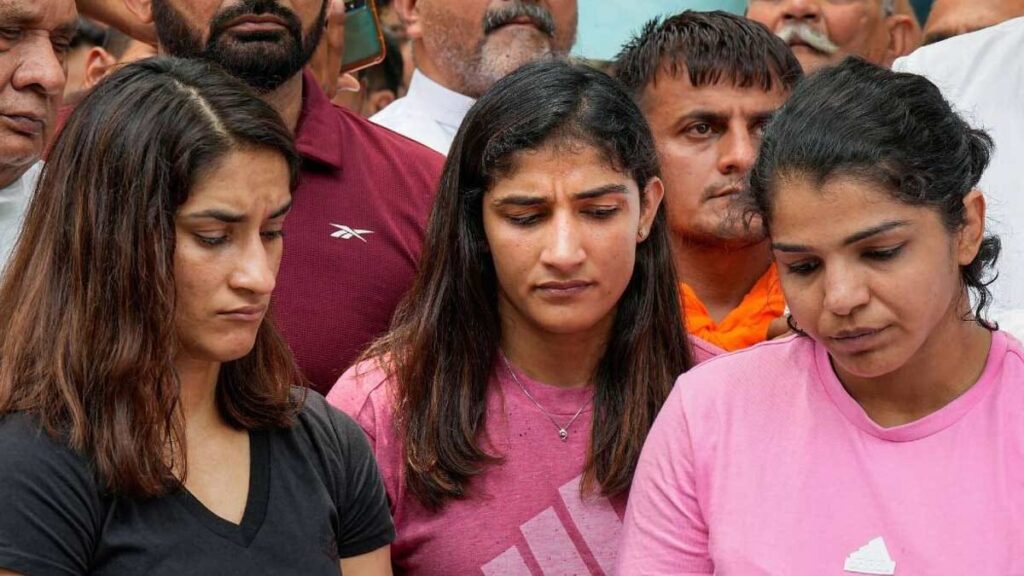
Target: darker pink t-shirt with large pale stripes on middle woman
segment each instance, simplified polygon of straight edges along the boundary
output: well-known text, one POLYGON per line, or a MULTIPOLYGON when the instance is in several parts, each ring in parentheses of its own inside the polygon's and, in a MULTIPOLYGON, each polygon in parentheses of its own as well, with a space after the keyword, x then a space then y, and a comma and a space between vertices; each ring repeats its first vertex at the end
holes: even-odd
MULTIPOLYGON (((702 342, 694 344, 698 362, 716 352, 702 342)), ((519 371, 516 375, 560 423, 584 406, 568 438, 559 439, 558 428, 500 363, 487 394, 486 434, 505 462, 474 479, 473 497, 449 501, 438 512, 424 508, 407 490, 393 387, 377 363, 352 367, 328 395, 328 402, 362 426, 374 448, 398 534, 391 544, 397 574, 612 572, 626 498, 580 493, 592 390, 561 389, 519 371)))

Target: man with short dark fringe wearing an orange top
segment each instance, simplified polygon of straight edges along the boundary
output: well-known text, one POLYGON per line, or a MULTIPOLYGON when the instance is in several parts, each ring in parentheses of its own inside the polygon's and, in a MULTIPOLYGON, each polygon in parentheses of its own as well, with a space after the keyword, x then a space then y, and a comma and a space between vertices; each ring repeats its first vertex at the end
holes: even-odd
POLYGON ((648 23, 615 75, 650 123, 662 161, 686 329, 727 351, 785 331, 785 302, 746 176, 761 133, 802 77, 763 26, 727 12, 648 23))

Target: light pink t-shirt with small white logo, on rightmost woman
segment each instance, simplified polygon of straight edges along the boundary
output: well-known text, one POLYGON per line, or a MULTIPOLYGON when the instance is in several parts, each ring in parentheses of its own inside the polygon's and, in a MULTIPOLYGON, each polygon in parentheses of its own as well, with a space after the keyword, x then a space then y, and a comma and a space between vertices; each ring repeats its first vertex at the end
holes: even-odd
POLYGON ((883 428, 806 337, 679 378, 633 482, 618 574, 1024 574, 1024 352, 883 428))

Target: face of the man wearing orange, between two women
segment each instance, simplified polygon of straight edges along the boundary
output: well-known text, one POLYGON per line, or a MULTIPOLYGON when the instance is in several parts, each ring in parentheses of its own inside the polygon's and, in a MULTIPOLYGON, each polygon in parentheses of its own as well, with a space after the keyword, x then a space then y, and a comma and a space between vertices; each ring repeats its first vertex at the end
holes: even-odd
POLYGON ((770 92, 729 80, 693 87, 682 69, 659 72, 644 89, 674 242, 740 249, 764 240, 760 221, 746 221, 746 176, 765 125, 788 95, 775 84, 770 92))

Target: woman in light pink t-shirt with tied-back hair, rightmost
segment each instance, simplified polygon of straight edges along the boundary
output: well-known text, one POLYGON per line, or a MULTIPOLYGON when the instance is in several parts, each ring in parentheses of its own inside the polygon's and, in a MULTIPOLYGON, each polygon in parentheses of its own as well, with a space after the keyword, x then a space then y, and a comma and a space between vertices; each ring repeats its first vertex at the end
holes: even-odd
POLYGON ((752 172, 799 334, 682 377, 620 574, 1024 574, 1024 352, 986 320, 991 140, 928 80, 848 59, 752 172))

